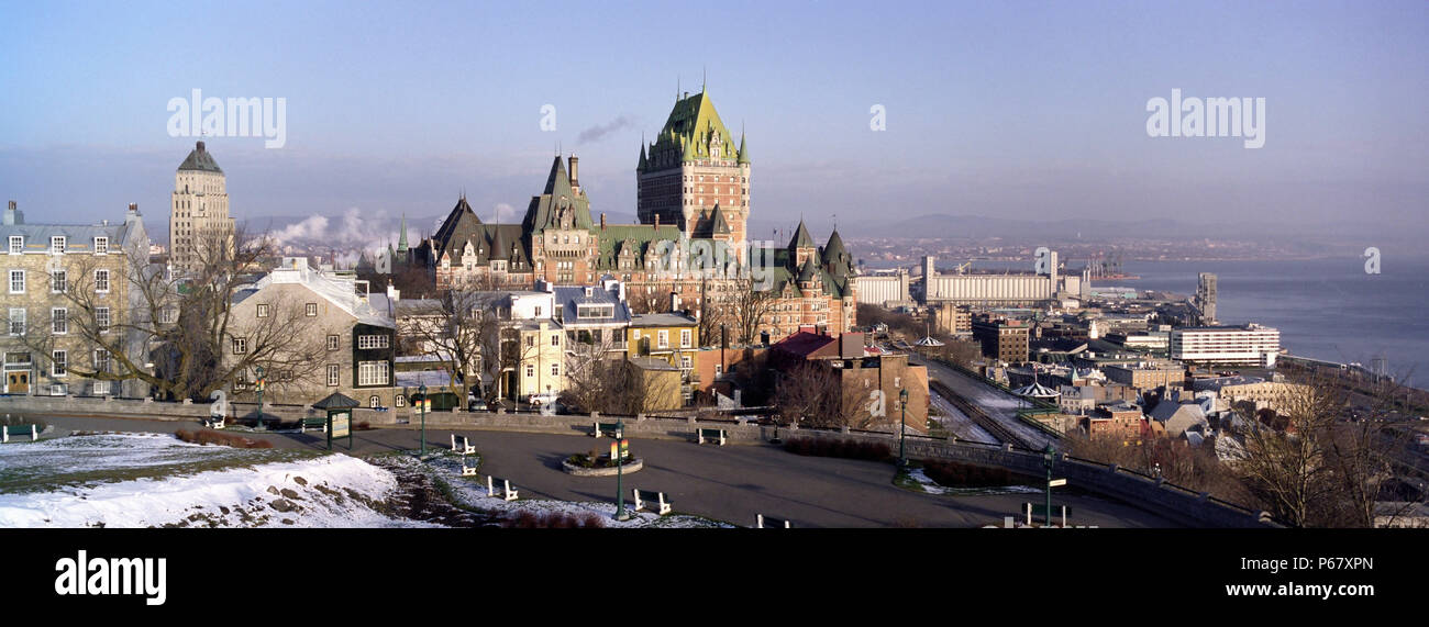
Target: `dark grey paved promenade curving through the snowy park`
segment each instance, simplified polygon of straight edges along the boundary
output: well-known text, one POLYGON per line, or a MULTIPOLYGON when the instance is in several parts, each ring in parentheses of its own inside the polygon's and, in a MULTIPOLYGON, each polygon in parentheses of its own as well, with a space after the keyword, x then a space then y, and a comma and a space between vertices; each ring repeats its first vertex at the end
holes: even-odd
MULTIPOLYGON (((191 423, 93 417, 49 417, 57 434, 69 430, 123 430, 173 433, 191 423)), ((453 431, 429 428, 427 447, 449 447, 449 436, 462 433, 482 453, 483 474, 510 478, 523 497, 557 500, 613 500, 614 477, 572 477, 560 461, 572 453, 604 450, 610 440, 509 431, 453 431)), ((262 434, 277 447, 323 447, 322 434, 262 434)), ((406 428, 357 431, 354 453, 412 450, 419 433, 406 428)), ((660 490, 674 510, 750 526, 755 514, 793 521, 796 527, 977 527, 1000 524, 1023 501, 1040 503, 1039 494, 949 497, 922 494, 892 484, 886 463, 800 457, 772 446, 697 446, 673 440, 632 438, 632 451, 644 458, 644 470, 624 477, 630 487, 660 490)), ((344 448, 340 448, 344 450, 344 448)), ((626 493, 629 498, 629 491, 626 493)), ((1085 494, 1057 494, 1057 504, 1072 506, 1072 524, 1099 527, 1176 527, 1139 508, 1085 494)))

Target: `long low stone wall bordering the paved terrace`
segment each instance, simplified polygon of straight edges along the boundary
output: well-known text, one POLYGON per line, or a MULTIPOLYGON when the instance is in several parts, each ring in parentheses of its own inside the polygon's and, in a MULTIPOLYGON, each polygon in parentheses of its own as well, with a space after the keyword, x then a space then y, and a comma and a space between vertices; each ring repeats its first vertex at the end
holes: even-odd
MULTIPOLYGON (((230 406, 230 416, 247 416, 252 403, 230 406)), ((80 397, 0 397, 0 413, 76 414, 109 417, 153 417, 160 420, 199 420, 209 414, 204 404, 150 403, 119 398, 80 397)), ((317 416, 304 407, 267 407, 266 416, 283 420, 297 420, 303 416, 317 416)), ((353 421, 367 421, 373 427, 407 428, 399 426, 397 417, 412 417, 412 410, 376 411, 354 410, 353 421)), ((614 416, 542 416, 539 413, 487 413, 487 411, 434 411, 427 414, 427 427, 436 428, 480 428, 496 431, 590 434, 593 423, 613 423, 614 416)), ((862 441, 882 441, 897 446, 890 433, 832 431, 813 428, 776 428, 743 420, 696 420, 634 416, 624 417, 626 437, 660 440, 694 440, 696 428, 723 428, 730 444, 762 444, 776 434, 789 437, 835 437, 862 441)), ((1046 476, 1043 457, 1037 451, 1015 450, 1010 446, 977 444, 945 438, 915 437, 906 440, 907 456, 920 460, 947 460, 969 464, 993 466, 1032 477, 1046 476)), ((1275 527, 1263 511, 1248 510, 1219 501, 1205 493, 1195 493, 1139 473, 1095 461, 1075 460, 1057 454, 1053 474, 1066 478, 1072 486, 1105 494, 1147 511, 1165 516, 1193 527, 1275 527)))

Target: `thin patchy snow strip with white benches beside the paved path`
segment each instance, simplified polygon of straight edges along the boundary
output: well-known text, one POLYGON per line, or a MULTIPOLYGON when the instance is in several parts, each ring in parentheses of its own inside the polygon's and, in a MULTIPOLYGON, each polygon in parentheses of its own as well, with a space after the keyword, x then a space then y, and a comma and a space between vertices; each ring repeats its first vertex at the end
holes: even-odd
MULTIPOLYGON (((426 463, 419 461, 413 456, 394 457, 404 466, 430 473, 434 478, 446 483, 452 487, 452 494, 457 504, 462 507, 469 507, 472 510, 486 511, 494 516, 512 516, 522 510, 544 514, 549 511, 563 511, 573 516, 583 516, 589 513, 596 513, 602 516, 602 521, 606 527, 617 528, 640 528, 640 527, 733 527, 730 524, 717 523, 709 518, 700 518, 697 516, 680 516, 667 514, 657 516, 647 511, 632 511, 634 507, 634 498, 632 494, 626 494, 626 511, 630 513, 630 520, 617 521, 614 520, 616 504, 603 501, 552 501, 552 500, 527 500, 517 498, 516 501, 506 501, 500 497, 489 497, 486 491, 486 476, 477 474, 474 477, 462 476, 462 456, 453 453, 437 453, 427 457, 426 463)), ((479 464, 477 456, 467 456, 467 467, 479 464)), ((513 486, 516 493, 520 494, 520 484, 513 486)), ((643 493, 642 493, 643 494, 643 493)), ((672 506, 679 507, 679 503, 672 506)))

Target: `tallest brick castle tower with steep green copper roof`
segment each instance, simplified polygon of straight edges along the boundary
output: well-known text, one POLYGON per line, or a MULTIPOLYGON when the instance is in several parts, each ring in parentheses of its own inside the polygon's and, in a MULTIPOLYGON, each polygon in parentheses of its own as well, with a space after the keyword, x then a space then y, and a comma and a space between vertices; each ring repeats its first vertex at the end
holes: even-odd
POLYGON ((654 141, 640 146, 637 216, 644 224, 654 224, 656 219, 660 224, 676 224, 692 239, 714 237, 719 230, 743 261, 749 170, 743 134, 736 146, 709 93, 684 93, 654 141))

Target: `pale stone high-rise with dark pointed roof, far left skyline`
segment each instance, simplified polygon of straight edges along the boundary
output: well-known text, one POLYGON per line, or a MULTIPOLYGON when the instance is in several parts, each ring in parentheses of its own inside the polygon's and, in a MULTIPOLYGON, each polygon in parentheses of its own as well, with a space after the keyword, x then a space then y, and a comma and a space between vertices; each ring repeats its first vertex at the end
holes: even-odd
POLYGON ((169 213, 169 266, 191 271, 219 257, 223 246, 233 256, 233 219, 223 170, 203 141, 194 146, 174 174, 169 213))

